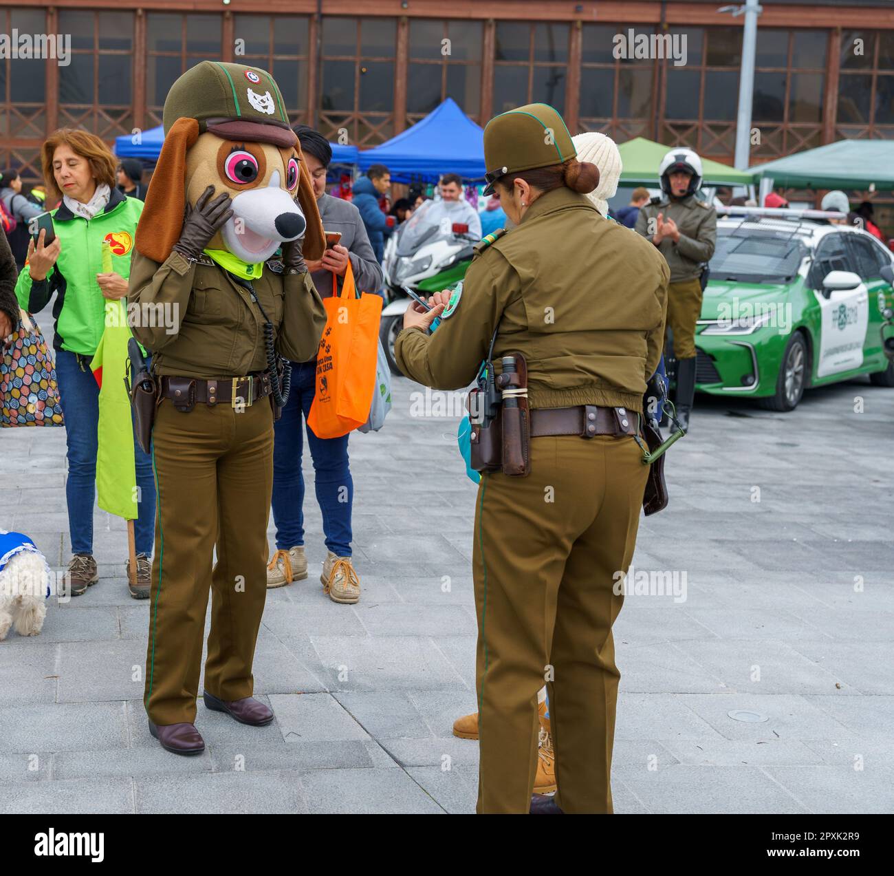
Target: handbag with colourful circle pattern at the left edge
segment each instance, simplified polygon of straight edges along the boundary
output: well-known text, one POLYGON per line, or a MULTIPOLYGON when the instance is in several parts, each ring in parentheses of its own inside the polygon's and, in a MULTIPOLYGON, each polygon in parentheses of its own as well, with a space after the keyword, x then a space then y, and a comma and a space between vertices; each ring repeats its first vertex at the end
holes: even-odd
POLYGON ((0 360, 0 426, 62 426, 55 361, 38 324, 21 311, 13 344, 0 360))

